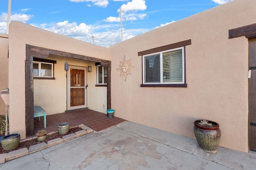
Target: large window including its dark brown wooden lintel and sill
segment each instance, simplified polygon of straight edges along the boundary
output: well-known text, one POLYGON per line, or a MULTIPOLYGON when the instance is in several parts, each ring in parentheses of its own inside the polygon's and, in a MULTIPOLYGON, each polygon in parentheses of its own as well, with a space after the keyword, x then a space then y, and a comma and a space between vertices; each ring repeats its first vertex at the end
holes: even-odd
POLYGON ((140 86, 187 87, 185 46, 190 44, 191 40, 187 40, 139 52, 138 54, 144 54, 142 55, 142 84, 140 86), (176 48, 167 49, 168 47, 176 48))

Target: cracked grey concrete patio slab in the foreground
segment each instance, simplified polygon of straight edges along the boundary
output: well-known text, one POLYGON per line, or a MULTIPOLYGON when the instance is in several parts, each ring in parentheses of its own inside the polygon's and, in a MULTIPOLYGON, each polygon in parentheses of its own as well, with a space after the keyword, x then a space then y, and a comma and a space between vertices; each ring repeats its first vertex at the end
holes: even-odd
POLYGON ((256 166, 254 152, 220 147, 217 154, 210 154, 193 143, 184 136, 126 121, 0 164, 0 169, 250 170, 256 166), (188 141, 187 150, 178 143, 186 143, 183 140, 188 141))

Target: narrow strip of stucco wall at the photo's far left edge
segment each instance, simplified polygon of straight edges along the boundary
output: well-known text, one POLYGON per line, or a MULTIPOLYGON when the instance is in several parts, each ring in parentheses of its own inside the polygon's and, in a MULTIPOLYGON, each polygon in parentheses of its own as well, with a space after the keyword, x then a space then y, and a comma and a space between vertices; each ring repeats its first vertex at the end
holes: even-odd
MULTIPOLYGON (((0 33, 0 90, 8 87, 8 35, 0 33)), ((1 93, 1 92, 0 92, 1 93)), ((4 100, 0 98, 0 115, 5 115, 4 100)))

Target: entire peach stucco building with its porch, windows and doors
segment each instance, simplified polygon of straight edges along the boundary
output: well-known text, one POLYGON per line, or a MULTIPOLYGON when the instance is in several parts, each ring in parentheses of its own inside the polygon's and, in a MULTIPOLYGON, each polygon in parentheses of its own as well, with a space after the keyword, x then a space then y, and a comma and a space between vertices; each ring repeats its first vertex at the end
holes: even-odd
POLYGON ((31 135, 33 106, 48 115, 112 108, 116 117, 191 138, 194 120, 216 121, 220 146, 256 150, 255 7, 233 0, 109 48, 12 21, 0 34, 10 133, 31 135))

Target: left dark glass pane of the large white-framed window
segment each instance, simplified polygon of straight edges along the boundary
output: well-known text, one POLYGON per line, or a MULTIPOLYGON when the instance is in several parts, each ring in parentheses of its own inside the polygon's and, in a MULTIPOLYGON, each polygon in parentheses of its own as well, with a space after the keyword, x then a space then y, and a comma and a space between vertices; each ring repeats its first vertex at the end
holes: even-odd
POLYGON ((144 78, 146 83, 160 82, 160 55, 144 58, 144 78))

